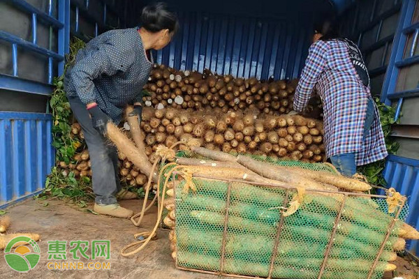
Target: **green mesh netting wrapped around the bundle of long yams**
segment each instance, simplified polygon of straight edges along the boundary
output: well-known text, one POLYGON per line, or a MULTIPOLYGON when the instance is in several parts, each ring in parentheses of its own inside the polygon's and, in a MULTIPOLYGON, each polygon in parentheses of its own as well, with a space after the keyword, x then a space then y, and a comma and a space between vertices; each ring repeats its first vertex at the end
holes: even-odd
MULTIPOLYGON (((310 165, 304 164, 307 168, 310 165)), ((178 266, 267 277, 274 256, 272 278, 318 278, 340 199, 306 193, 300 208, 284 217, 279 229, 279 208, 289 205, 284 202, 286 190, 198 178, 193 181, 196 193, 182 194, 184 182, 175 186, 178 266), (277 252, 273 255, 277 238, 277 252)), ((288 200, 293 195, 295 190, 289 190, 288 200)), ((394 216, 386 212, 385 199, 346 199, 322 278, 367 278, 394 216)), ((404 220, 406 215, 407 206, 399 219, 404 220)), ((401 241, 397 238, 399 225, 385 243, 372 278, 381 278, 394 256, 393 247, 401 241)))

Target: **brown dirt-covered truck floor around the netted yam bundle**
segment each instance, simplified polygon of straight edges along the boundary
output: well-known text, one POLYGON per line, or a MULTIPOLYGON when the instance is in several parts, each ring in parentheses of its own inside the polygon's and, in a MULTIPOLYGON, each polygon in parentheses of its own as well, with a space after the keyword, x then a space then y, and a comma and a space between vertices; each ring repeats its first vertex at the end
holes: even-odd
MULTIPOLYGON (((158 239, 149 243, 149 246, 137 255, 122 257, 119 250, 133 241, 133 234, 151 230, 156 220, 156 208, 145 216, 143 226, 135 227, 130 220, 97 216, 92 213, 82 212, 64 204, 63 202, 48 200, 48 205, 28 199, 7 209, 11 219, 9 233, 32 232, 41 235, 38 245, 41 249, 41 260, 38 265, 28 273, 17 273, 10 269, 4 257, 0 257, 0 278, 182 278, 182 279, 214 279, 203 273, 181 271, 175 268, 170 257, 170 243, 168 232, 159 229, 158 239), (50 270, 48 262, 59 262, 48 259, 47 241, 93 241, 110 240, 110 260, 98 259, 100 262, 110 262, 109 270, 50 270)), ((140 201, 131 200, 121 203, 133 211, 140 211, 140 201)), ((67 251, 69 251, 69 247, 67 251)), ((90 248, 88 253, 90 252, 90 248)), ((71 253, 67 252, 69 262, 75 262, 71 253)), ((87 264, 91 260, 80 259, 87 264)), ((96 260, 95 260, 96 261, 96 260)), ((385 279, 410 274, 404 279, 413 279, 419 274, 419 269, 411 261, 397 259, 399 269, 394 273, 385 274, 385 279), (416 274, 415 274, 416 273, 416 274), (413 276, 415 274, 416 276, 413 276)), ((348 278, 350 279, 350 278, 348 278)))

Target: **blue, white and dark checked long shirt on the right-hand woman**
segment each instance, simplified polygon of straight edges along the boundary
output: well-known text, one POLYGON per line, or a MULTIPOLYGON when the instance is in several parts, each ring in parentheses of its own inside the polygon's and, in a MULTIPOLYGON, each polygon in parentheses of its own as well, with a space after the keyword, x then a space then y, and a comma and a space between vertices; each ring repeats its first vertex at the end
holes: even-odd
POLYGON ((311 45, 294 96, 294 110, 301 112, 316 88, 324 110, 326 156, 355 153, 357 165, 385 158, 384 135, 374 105, 375 119, 365 139, 367 102, 371 97, 356 73, 341 40, 318 40, 311 45))

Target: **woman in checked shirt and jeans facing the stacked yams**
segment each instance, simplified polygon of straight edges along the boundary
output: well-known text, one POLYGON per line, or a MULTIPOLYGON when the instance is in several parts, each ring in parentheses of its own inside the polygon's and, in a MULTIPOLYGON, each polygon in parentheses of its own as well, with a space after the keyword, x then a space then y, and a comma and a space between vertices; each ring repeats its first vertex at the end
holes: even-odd
POLYGON ((369 91, 367 67, 355 43, 328 20, 317 28, 294 97, 302 112, 313 89, 323 103, 326 156, 346 176, 385 158, 384 135, 369 91))

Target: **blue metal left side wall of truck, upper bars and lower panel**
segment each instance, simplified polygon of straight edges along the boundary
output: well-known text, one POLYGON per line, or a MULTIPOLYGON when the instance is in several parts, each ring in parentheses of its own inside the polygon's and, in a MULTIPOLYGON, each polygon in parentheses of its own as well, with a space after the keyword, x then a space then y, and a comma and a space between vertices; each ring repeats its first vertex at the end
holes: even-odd
MULTIPOLYGON (((70 31, 74 36, 87 40, 112 27, 120 27, 123 21, 119 20, 119 14, 124 12, 122 6, 126 3, 115 0, 30 2, 0 1, 3 13, 8 10, 19 11, 22 16, 31 19, 31 24, 27 26, 31 34, 29 39, 24 39, 24 33, 17 33, 13 25, 9 26, 10 32, 3 28, 0 30, 0 46, 8 48, 7 55, 2 57, 10 57, 10 67, 6 72, 0 70, 0 92, 4 90, 15 94, 49 96, 52 92, 52 77, 62 75, 64 71, 64 54, 68 52, 70 31), (75 20, 71 21, 71 15, 76 17, 75 20), (38 43, 41 28, 49 29, 52 34, 47 38, 50 41, 49 47, 38 43), (57 51, 52 49, 53 45, 57 45, 57 51), (45 82, 31 80, 21 74, 22 64, 29 64, 29 70, 31 66, 31 61, 25 61, 26 57, 19 55, 22 51, 47 60, 45 71, 41 73, 47 75, 45 82)), ((25 101, 30 102, 30 98, 25 101)), ((47 110, 45 104, 45 112, 47 110)), ((46 176, 55 160, 51 129, 51 114, 0 111, 0 207, 33 195, 44 187, 46 176)))

